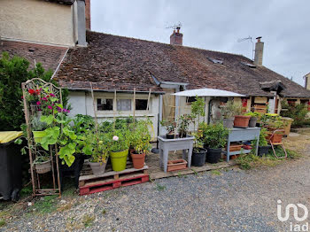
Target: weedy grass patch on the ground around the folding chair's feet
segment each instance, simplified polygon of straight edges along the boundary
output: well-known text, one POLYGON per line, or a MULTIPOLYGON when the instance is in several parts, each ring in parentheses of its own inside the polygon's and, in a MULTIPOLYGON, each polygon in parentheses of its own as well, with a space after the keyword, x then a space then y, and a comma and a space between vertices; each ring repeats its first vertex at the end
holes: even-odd
MULTIPOLYGON (((300 157, 300 154, 296 151, 291 151, 290 149, 286 149, 288 159, 297 159, 300 157)), ((281 159, 285 157, 285 153, 281 147, 275 147, 275 153, 277 158, 275 158, 274 152, 272 149, 269 150, 267 155, 262 157, 256 156, 252 153, 240 155, 236 159, 236 164, 240 166, 241 169, 249 170, 252 168, 259 168, 263 166, 276 166, 283 162, 285 159, 281 159)))

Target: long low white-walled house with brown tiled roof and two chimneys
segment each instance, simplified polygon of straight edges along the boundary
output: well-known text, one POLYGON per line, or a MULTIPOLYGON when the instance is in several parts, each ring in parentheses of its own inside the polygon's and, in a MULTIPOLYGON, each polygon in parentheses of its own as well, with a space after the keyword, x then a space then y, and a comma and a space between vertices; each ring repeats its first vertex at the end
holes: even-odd
MULTIPOLYGON (((137 115, 150 116, 154 127, 159 120, 189 112, 186 106, 192 99, 170 95, 184 89, 213 88, 243 94, 246 97, 238 100, 248 110, 260 112, 266 112, 267 105, 275 105, 274 111, 279 112, 281 100, 310 98, 309 90, 262 66, 262 49, 252 61, 242 55, 184 47, 180 29, 170 39, 172 44, 154 43, 88 31, 88 47, 69 50, 55 78, 72 90, 74 113, 94 115, 91 82, 100 119, 133 115, 134 88, 139 99, 146 99, 151 89, 150 110, 137 115)), ((261 44, 259 38, 256 46, 262 48, 261 44)), ((216 101, 221 103, 221 99, 216 101)))

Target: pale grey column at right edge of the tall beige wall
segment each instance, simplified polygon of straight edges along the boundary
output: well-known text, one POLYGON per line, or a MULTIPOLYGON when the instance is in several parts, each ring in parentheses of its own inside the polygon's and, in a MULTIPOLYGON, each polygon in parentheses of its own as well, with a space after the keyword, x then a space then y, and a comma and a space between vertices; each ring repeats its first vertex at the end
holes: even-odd
POLYGON ((78 45, 85 47, 86 43, 86 22, 85 22, 85 2, 77 0, 77 39, 78 45))

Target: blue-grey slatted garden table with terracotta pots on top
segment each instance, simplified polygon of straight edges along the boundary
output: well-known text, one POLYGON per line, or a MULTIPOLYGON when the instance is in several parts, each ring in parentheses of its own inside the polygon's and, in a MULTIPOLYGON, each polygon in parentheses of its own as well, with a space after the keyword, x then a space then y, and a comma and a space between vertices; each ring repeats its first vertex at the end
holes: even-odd
POLYGON ((226 153, 226 159, 229 162, 229 157, 241 153, 250 153, 251 150, 243 150, 243 151, 229 151, 231 142, 238 141, 251 141, 257 139, 256 143, 256 155, 259 151, 259 141, 260 141, 260 128, 232 128, 230 129, 228 141, 227 141, 227 151, 223 151, 226 153))

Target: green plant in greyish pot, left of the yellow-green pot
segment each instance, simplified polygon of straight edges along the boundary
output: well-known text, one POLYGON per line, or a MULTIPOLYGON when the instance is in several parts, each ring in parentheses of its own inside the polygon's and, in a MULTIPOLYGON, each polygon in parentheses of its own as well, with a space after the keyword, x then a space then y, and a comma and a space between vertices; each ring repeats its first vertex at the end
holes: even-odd
POLYGON ((108 135, 104 133, 97 134, 92 130, 87 135, 86 143, 82 151, 86 155, 90 155, 89 166, 93 174, 104 174, 110 149, 108 135))

